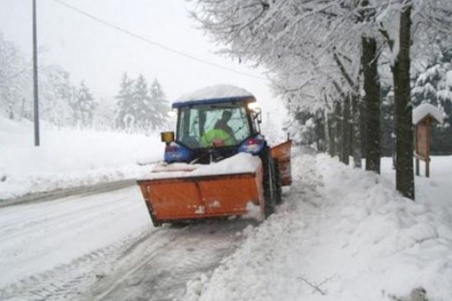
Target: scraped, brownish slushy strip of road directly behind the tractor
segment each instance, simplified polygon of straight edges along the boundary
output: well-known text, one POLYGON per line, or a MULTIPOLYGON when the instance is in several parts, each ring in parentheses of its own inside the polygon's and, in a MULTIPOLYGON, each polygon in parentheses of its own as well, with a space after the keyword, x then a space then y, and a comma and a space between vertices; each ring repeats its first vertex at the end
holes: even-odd
POLYGON ((235 220, 189 225, 159 248, 149 249, 146 243, 140 244, 125 256, 131 262, 121 264, 122 268, 101 279, 85 297, 179 300, 185 293, 186 282, 219 265, 242 239, 237 232, 249 224, 247 220, 235 220))

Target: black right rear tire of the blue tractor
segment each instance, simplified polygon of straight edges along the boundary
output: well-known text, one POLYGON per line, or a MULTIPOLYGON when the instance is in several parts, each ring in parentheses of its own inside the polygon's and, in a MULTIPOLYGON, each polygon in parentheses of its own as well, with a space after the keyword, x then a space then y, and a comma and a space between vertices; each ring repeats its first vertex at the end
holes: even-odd
POLYGON ((270 215, 275 213, 275 167, 273 159, 270 156, 269 148, 266 147, 261 155, 262 164, 264 167, 264 218, 267 219, 270 215))

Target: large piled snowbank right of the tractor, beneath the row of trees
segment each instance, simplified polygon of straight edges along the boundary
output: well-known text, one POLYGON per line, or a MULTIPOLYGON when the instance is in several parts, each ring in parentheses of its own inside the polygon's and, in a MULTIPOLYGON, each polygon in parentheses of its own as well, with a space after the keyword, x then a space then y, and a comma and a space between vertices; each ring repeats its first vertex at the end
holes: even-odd
POLYGON ((450 300, 452 204, 412 202, 325 155, 294 161, 286 203, 186 299, 450 300))

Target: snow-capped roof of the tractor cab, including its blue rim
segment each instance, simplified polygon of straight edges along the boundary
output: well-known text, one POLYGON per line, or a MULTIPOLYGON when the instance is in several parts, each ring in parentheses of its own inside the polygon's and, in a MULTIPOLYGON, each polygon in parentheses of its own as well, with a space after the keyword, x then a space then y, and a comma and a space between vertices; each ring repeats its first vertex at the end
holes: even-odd
POLYGON ((180 108, 183 106, 193 104, 210 104, 231 101, 256 101, 256 98, 249 91, 231 85, 216 85, 209 86, 196 90, 189 94, 180 96, 176 102, 173 103, 173 108, 180 108))

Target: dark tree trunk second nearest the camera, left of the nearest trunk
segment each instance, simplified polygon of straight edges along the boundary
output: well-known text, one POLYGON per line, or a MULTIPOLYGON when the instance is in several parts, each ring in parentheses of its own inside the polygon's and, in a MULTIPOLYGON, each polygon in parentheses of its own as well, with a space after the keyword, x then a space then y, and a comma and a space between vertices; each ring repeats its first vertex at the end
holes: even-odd
POLYGON ((380 173, 380 78, 377 41, 362 38, 364 91, 366 96, 366 170, 380 173))

